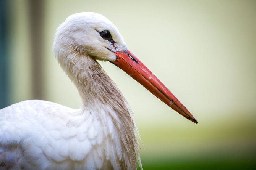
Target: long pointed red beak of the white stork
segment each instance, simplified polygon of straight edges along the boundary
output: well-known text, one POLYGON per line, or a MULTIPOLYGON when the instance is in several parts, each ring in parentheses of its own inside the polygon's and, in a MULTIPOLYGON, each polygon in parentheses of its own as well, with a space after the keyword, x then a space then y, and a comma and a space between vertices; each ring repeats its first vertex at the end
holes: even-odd
POLYGON ((112 63, 129 74, 137 82, 141 83, 147 90, 157 98, 170 106, 173 110, 183 115, 194 123, 198 123, 194 116, 183 106, 182 103, 160 82, 151 71, 136 58, 130 50, 115 52, 117 59, 112 63))

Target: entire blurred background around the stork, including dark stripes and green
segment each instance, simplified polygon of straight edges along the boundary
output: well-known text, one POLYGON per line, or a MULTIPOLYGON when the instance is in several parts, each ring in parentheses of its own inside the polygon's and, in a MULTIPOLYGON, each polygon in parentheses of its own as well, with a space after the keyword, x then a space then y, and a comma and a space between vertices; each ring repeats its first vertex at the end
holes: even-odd
POLYGON ((256 167, 255 0, 2 0, 0 108, 43 99, 79 108, 52 52, 69 15, 109 18, 129 49, 198 120, 177 114, 122 70, 102 67, 134 112, 144 170, 256 167))

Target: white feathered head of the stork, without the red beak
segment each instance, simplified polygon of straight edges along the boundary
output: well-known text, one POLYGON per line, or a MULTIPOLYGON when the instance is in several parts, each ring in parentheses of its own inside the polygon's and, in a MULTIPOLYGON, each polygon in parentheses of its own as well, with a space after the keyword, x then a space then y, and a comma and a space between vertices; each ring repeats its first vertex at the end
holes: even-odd
POLYGON ((117 27, 104 16, 93 13, 76 13, 57 29, 53 50, 58 60, 66 59, 74 51, 98 60, 115 61, 116 51, 127 46, 117 27))

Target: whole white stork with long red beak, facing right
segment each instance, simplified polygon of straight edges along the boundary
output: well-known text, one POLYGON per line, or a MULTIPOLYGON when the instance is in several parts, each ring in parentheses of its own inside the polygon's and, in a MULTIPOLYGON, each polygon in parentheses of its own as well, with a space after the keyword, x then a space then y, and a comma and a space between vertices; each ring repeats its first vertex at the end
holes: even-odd
POLYGON ((76 13, 53 50, 83 101, 71 109, 28 100, 0 110, 0 170, 136 169, 138 132, 130 107, 97 60, 110 61, 187 119, 193 115, 127 48, 104 16, 76 13))

